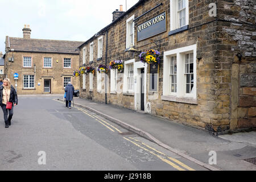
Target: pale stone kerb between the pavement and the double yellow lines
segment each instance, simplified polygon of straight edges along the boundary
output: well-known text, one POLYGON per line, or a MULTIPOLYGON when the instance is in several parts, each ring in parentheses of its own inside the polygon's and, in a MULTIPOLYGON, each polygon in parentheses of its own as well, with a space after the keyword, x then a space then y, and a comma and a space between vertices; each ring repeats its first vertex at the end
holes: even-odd
MULTIPOLYGON (((57 99, 57 100, 59 100, 59 99, 57 99)), ((59 101, 61 101, 61 100, 59 100, 59 101)), ((97 110, 95 110, 95 109, 93 109, 89 106, 84 106, 84 105, 81 105, 81 104, 75 104, 75 105, 79 106, 79 107, 83 107, 85 109, 88 109, 88 110, 90 110, 93 113, 96 113, 98 115, 101 115, 101 117, 104 117, 104 118, 116 123, 119 126, 125 127, 125 129, 130 130, 130 131, 138 134, 139 136, 141 136, 143 138, 146 138, 146 139, 150 140, 151 142, 154 142, 154 143, 158 144, 159 146, 161 146, 163 148, 166 148, 167 150, 169 150, 171 152, 174 152, 175 154, 177 154, 177 155, 179 155, 179 156, 181 156, 181 157, 183 157, 187 160, 190 160, 191 162, 196 163, 201 167, 207 168, 210 171, 222 171, 222 169, 220 169, 220 168, 210 166, 209 164, 200 162, 199 160, 197 160, 195 158, 192 158, 191 156, 185 154, 185 151, 180 151, 178 149, 175 149, 175 148, 172 148, 172 147, 168 146, 167 144, 164 144, 164 143, 160 142, 158 139, 156 139, 155 137, 153 137, 151 134, 147 133, 146 131, 143 131, 141 129, 138 129, 137 127, 134 127, 134 126, 131 126, 131 125, 125 123, 125 122, 122 122, 119 119, 115 119, 115 118, 113 118, 109 115, 101 113, 100 111, 97 111, 97 110)))

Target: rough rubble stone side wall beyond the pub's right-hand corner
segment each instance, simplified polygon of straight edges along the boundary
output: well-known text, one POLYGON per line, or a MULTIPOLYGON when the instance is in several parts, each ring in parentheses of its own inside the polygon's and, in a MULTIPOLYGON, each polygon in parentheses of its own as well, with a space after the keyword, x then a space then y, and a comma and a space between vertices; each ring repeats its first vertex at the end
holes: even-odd
POLYGON ((223 39, 232 63, 232 129, 256 127, 255 1, 218 2, 223 39))

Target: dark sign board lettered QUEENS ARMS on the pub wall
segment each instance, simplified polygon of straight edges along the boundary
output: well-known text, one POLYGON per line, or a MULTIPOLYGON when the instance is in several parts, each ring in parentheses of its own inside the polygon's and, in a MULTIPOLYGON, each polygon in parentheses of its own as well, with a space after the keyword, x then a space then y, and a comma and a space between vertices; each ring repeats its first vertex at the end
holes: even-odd
POLYGON ((141 41, 151 36, 160 34, 167 30, 166 27, 166 12, 147 20, 137 26, 137 41, 141 41))

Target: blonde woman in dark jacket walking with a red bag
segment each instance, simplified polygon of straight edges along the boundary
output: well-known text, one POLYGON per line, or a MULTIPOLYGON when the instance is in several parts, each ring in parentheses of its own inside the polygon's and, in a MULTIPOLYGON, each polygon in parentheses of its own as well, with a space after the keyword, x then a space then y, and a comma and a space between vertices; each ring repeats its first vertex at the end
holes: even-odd
POLYGON ((0 86, 0 105, 3 110, 3 118, 5 119, 5 127, 8 128, 11 125, 11 118, 13 118, 13 107, 18 104, 18 97, 16 90, 11 85, 10 79, 5 78, 3 85, 0 86), (11 109, 6 109, 7 102, 11 102, 11 109), (9 117, 8 117, 9 113, 9 117))

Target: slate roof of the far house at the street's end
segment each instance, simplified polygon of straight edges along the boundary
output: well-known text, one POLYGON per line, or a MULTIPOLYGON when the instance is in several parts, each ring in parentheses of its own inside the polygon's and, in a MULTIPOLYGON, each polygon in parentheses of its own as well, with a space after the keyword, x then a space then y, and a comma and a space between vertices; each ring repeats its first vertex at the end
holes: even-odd
POLYGON ((10 49, 21 52, 47 52, 79 54, 77 47, 84 42, 68 40, 9 38, 10 49))

